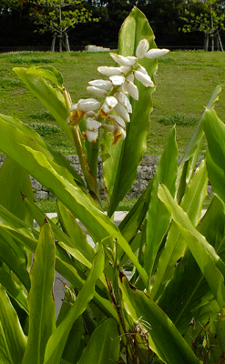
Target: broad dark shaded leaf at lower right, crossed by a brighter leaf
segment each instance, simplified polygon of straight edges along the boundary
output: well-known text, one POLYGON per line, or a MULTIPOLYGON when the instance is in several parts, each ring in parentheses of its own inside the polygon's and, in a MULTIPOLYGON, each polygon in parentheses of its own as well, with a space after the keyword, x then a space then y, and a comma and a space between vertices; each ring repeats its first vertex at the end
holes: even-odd
MULTIPOLYGON (((197 227, 210 245, 217 248, 218 254, 219 250, 224 248, 225 215, 222 205, 218 198, 214 198, 197 227)), ((198 317, 200 315, 199 308, 202 307, 203 309, 208 304, 211 307, 212 298, 213 294, 206 279, 190 250, 187 249, 184 257, 176 265, 169 284, 164 288, 158 302, 159 307, 169 315, 169 318, 172 319, 181 334, 184 334, 193 317, 196 321, 199 320, 197 319, 197 315, 198 317)), ((218 307, 217 311, 219 310, 218 307)), ((209 318, 210 315, 207 315, 207 318, 209 318)))

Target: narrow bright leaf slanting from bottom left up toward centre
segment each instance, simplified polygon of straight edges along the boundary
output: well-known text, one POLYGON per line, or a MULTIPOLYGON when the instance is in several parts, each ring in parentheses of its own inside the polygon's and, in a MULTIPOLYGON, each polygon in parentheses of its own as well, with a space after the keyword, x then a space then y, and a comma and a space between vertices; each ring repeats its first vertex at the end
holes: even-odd
POLYGON ((48 340, 44 364, 60 363, 69 331, 76 319, 87 308, 89 300, 93 298, 97 279, 101 276, 103 269, 104 251, 101 246, 98 246, 97 255, 94 258, 93 266, 83 288, 79 291, 77 299, 68 311, 66 318, 63 319, 57 329, 53 332, 51 338, 48 340))

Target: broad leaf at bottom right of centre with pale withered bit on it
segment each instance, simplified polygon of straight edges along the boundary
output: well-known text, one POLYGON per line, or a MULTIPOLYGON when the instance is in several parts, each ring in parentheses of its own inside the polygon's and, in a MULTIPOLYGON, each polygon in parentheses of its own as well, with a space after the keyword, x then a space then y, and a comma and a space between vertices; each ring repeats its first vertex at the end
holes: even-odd
POLYGON ((161 308, 123 277, 119 287, 122 302, 134 321, 148 331, 148 345, 167 364, 199 363, 189 345, 161 308))

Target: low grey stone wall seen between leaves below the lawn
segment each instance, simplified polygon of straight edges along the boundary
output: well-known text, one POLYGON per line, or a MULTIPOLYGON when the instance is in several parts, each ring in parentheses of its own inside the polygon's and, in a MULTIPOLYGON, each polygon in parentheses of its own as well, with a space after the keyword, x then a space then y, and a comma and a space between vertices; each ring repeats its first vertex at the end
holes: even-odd
MULTIPOLYGON (((138 177, 133 186, 131 187, 128 195, 128 198, 138 197, 144 192, 145 188, 148 186, 149 181, 152 177, 154 177, 157 166, 159 163, 160 156, 144 156, 142 159, 142 163, 138 166, 138 177)), ((198 163, 202 160, 203 157, 199 157, 198 163)), ((70 164, 76 169, 78 174, 81 173, 81 167, 78 163, 77 156, 67 156, 66 159, 70 162, 70 164)), ((2 166, 5 160, 5 156, 0 156, 0 167, 2 166)), ((32 186, 35 193, 35 197, 39 199, 45 198, 54 198, 45 187, 43 187, 39 182, 36 181, 33 177, 31 177, 32 186)), ((103 170, 101 159, 98 161, 98 172, 97 172, 97 182, 101 187, 100 193, 102 197, 105 196, 105 189, 103 184, 103 170)))

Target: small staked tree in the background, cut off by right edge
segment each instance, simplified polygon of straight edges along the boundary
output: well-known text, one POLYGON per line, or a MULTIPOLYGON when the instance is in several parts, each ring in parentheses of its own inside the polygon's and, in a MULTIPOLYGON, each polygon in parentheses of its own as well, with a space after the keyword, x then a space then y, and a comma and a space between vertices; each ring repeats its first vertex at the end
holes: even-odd
POLYGON ((223 51, 220 31, 225 29, 225 2, 218 0, 189 0, 182 19, 187 23, 183 32, 199 30, 205 35, 204 49, 208 51, 209 43, 213 51, 215 39, 218 49, 223 51))

